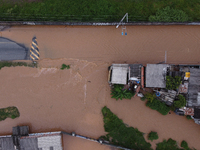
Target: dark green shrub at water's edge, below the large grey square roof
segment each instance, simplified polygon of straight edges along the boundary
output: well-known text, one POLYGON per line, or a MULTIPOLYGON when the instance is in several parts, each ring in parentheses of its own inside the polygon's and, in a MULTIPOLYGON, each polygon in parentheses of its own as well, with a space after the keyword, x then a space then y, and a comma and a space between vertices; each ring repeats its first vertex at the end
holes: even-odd
POLYGON ((168 107, 163 102, 161 102, 157 99, 153 99, 152 102, 148 101, 146 103, 146 106, 150 107, 153 110, 157 110, 162 115, 167 115, 168 112, 170 111, 170 107, 168 107))

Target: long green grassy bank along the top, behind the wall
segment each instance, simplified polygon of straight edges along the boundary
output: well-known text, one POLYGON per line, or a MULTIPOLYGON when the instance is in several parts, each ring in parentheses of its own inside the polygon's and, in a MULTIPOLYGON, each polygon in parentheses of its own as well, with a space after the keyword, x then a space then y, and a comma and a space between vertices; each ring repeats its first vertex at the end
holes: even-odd
POLYGON ((199 0, 0 0, 1 21, 200 21, 199 0), (165 12, 169 9, 170 15, 165 12), (166 10, 166 11, 164 11, 166 10), (171 17, 172 14, 178 15, 171 17), (186 15, 187 14, 187 15, 186 15), (161 17, 161 16, 167 17, 161 17), (150 17, 151 16, 151 17, 150 17), (170 17, 169 17, 170 16, 170 17))

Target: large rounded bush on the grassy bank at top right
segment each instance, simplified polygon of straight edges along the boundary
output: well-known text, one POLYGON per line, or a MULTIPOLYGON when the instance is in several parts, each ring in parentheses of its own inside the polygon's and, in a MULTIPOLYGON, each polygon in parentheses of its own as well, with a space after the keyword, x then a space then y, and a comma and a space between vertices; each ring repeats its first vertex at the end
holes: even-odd
POLYGON ((169 6, 158 10, 156 15, 149 17, 150 22, 187 22, 188 15, 182 10, 172 9, 169 6))

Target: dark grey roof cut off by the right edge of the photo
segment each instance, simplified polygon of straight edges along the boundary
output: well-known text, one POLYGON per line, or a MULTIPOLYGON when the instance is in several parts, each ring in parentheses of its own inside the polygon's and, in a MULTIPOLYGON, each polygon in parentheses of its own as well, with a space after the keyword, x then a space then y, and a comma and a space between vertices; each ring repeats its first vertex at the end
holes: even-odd
POLYGON ((190 68, 187 106, 200 106, 200 69, 190 68))

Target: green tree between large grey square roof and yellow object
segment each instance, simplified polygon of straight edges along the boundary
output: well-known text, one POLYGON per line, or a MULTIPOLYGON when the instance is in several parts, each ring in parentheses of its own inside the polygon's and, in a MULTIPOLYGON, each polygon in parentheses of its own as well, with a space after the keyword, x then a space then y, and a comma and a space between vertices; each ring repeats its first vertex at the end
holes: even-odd
POLYGON ((180 76, 175 76, 174 78, 171 76, 166 77, 166 89, 176 90, 180 84, 181 84, 180 76))

